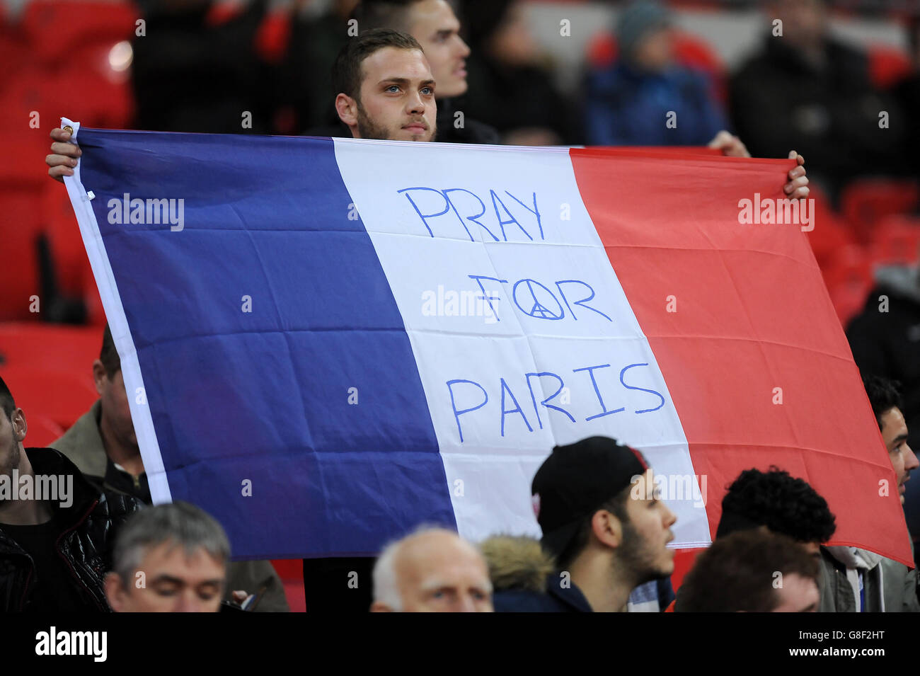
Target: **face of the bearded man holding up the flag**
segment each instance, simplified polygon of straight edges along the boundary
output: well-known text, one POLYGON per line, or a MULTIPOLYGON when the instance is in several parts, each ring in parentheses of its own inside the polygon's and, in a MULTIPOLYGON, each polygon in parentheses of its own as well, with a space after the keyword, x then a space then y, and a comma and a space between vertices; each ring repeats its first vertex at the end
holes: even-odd
MULTIPOLYGON (((385 47, 362 63, 358 132, 363 139, 431 141, 436 131, 434 79, 417 50, 385 47)), ((347 123, 347 122, 346 122, 347 123)))

